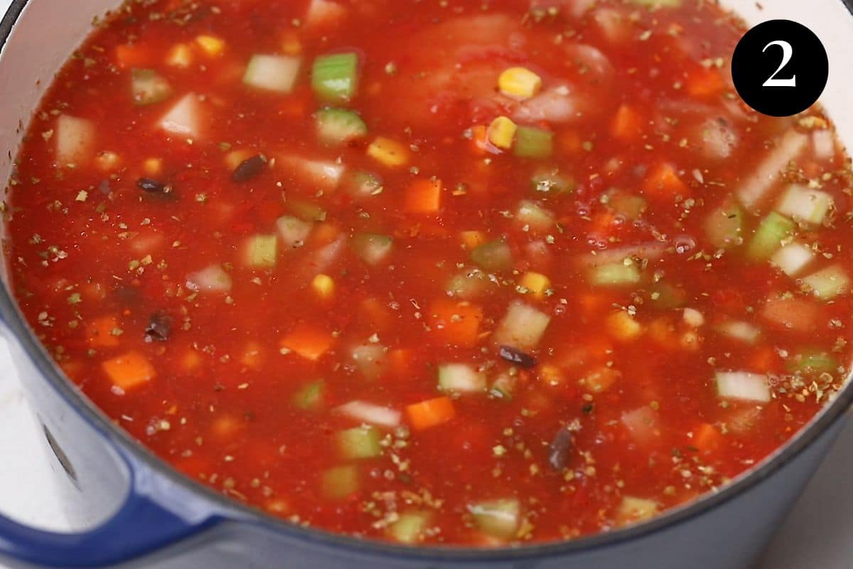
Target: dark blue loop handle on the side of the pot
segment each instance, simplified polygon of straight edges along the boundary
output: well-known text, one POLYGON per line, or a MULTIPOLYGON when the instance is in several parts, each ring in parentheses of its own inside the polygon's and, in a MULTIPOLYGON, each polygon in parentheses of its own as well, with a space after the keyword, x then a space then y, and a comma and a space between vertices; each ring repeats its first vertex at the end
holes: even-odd
POLYGON ((145 484, 138 481, 136 476, 112 518, 82 533, 37 530, 0 514, 0 559, 42 567, 114 566, 177 543, 219 521, 215 516, 185 519, 155 502, 142 489, 145 484))

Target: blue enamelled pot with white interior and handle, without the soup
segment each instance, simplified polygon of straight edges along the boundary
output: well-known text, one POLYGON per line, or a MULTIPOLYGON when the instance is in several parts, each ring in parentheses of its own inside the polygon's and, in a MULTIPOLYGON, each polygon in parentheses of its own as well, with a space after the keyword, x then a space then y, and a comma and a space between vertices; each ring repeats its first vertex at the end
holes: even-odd
MULTIPOLYGON (((90 30, 92 17, 116 3, 12 3, 0 25, 0 179, 8 179, 23 134, 20 125, 28 122, 53 74, 90 30)), ((763 8, 753 0, 727 4, 753 24, 773 18, 798 20, 821 37, 831 70, 822 102, 853 148, 853 106, 845 104, 851 80, 845 72, 853 61, 849 0, 764 0, 763 8)), ((853 386, 847 386, 803 433, 750 473, 645 524, 573 542, 514 549, 415 549, 291 525, 230 502, 171 470, 63 377, 20 316, 5 284, 0 287, 0 331, 9 339, 55 457, 69 516, 84 528, 73 534, 51 533, 0 515, 0 559, 12 566, 743 569, 762 553, 792 508, 853 403, 853 386)))

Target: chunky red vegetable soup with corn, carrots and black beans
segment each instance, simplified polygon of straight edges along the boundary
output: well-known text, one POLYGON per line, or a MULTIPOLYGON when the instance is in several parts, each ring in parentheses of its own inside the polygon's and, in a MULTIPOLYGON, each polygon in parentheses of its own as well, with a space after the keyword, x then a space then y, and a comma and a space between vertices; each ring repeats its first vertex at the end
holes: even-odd
POLYGON ((740 103, 733 16, 653 4, 126 3, 20 151, 20 306, 305 525, 495 546, 715 491, 844 383, 849 160, 740 103))

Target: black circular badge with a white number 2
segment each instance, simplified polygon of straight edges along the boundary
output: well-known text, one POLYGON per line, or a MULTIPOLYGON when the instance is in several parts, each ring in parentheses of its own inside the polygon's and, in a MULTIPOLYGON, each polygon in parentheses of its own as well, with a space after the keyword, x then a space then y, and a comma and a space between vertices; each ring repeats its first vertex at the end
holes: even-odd
POLYGON ((759 113, 802 113, 817 102, 828 77, 827 50, 815 32, 795 21, 758 24, 734 48, 734 88, 759 113))

